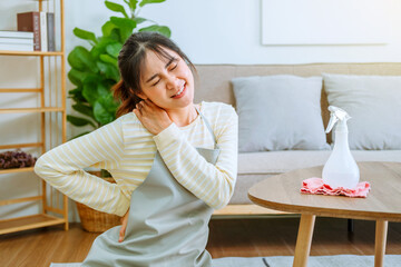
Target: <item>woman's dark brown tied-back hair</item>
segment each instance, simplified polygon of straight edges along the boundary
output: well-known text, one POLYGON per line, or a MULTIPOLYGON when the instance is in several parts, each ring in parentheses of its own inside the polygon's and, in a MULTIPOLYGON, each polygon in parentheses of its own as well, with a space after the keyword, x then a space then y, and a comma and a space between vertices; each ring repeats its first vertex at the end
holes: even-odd
POLYGON ((113 88, 114 97, 121 100, 121 105, 117 109, 117 117, 133 111, 141 100, 138 93, 141 92, 140 77, 145 65, 146 51, 151 50, 162 58, 170 60, 172 56, 165 50, 166 48, 178 53, 192 71, 196 72, 195 66, 188 57, 167 37, 147 31, 131 34, 118 55, 118 68, 121 80, 113 88))

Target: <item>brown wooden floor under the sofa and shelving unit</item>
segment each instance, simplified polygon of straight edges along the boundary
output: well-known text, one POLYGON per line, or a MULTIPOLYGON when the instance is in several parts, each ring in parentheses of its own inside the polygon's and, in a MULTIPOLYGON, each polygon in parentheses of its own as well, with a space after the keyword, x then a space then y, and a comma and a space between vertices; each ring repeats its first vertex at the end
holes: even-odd
MULTIPOLYGON (((214 258, 294 255, 299 218, 213 219, 207 250, 214 258)), ((374 221, 316 218, 311 255, 373 255, 374 221)), ((0 236, 0 266, 43 267, 81 261, 97 234, 71 224, 0 236)), ((387 254, 401 255, 401 224, 390 222, 387 254)), ((385 260, 385 259, 384 259, 385 260)))

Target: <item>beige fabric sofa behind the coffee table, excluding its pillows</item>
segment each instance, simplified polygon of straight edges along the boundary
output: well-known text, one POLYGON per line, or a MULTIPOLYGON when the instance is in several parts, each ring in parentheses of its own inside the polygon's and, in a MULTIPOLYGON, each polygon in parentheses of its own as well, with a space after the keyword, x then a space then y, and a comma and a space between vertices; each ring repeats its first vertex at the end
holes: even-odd
MULTIPOLYGON (((266 66, 243 66, 243 65, 197 65, 195 102, 222 101, 232 105, 238 110, 236 96, 233 88, 233 79, 245 77, 268 77, 268 76, 295 76, 295 77, 322 77, 322 73, 344 76, 372 76, 372 77, 397 77, 401 76, 401 63, 310 63, 310 65, 266 65, 266 66)), ((334 77, 335 78, 335 77, 334 77)), ((399 79, 397 77, 395 79, 399 79)), ((327 126, 330 113, 327 111, 329 100, 326 93, 326 81, 322 79, 320 111, 322 127, 327 126)), ((397 81, 398 82, 398 81, 397 81)), ((369 83, 369 82, 368 82, 369 83)), ((401 88, 399 88, 401 92, 401 88)), ((382 90, 378 88, 376 90, 382 90)), ((393 89, 392 89, 393 90, 393 89)), ((346 91, 345 91, 346 92, 346 91)), ((400 93, 397 93, 391 101, 399 102, 400 93)), ((288 96, 290 97, 290 96, 288 96)), ((334 101, 331 96, 331 101, 334 101)), ((335 97, 335 96, 334 96, 335 97)), ((394 102, 392 102, 393 107, 394 102)), ((387 106, 387 105, 382 105, 387 106)), ((401 101, 398 106, 401 106, 401 101)), ((381 109, 383 107, 378 107, 381 109)), ((376 111, 374 111, 376 112, 376 111)), ((400 109, 395 108, 391 118, 382 118, 383 123, 392 123, 394 118, 401 118, 400 109)), ((379 112, 380 113, 380 112, 379 112)), ((238 115, 241 116, 241 115, 238 115)), ((239 118, 239 127, 242 120, 239 118)), ((284 122, 282 122, 284 123, 284 122)), ((399 120, 397 120, 399 123, 399 120)), ((401 125, 401 123, 400 123, 401 125)), ((371 126, 376 129, 383 127, 371 126)), ((400 126, 397 126, 400 127, 400 126)), ((285 128, 285 126, 284 126, 285 128)), ((379 131, 380 132, 380 131, 379 131)), ((398 136, 395 136, 397 139, 398 136)), ((247 190, 256 182, 271 176, 291 171, 299 168, 307 168, 324 165, 332 147, 332 135, 324 134, 327 147, 323 149, 285 149, 285 150, 262 150, 239 151, 238 175, 234 195, 225 208, 215 211, 215 216, 247 216, 247 215, 280 215, 285 214, 270 210, 253 205, 247 198, 247 190)), ((400 138, 401 139, 401 138, 400 138)), ((398 140, 395 140, 398 141, 398 140)), ((398 145, 397 145, 398 146, 398 145)), ((356 161, 398 161, 401 162, 401 147, 390 149, 352 149, 351 152, 356 161)), ((301 185, 300 185, 301 187, 301 185)))

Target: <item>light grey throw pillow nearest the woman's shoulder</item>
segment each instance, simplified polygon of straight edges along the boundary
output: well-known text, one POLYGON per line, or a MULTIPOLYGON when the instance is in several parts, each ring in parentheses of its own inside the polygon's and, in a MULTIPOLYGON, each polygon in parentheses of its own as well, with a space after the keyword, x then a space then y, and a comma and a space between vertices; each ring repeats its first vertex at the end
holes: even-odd
POLYGON ((321 116, 321 77, 257 76, 232 83, 241 152, 330 148, 321 116))

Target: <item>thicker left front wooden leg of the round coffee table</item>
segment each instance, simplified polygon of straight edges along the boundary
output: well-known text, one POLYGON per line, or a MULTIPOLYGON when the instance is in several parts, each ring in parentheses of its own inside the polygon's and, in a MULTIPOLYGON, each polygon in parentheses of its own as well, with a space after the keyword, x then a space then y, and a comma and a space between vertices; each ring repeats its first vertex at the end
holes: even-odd
POLYGON ((307 266, 315 218, 315 215, 301 215, 293 267, 307 266))

